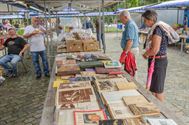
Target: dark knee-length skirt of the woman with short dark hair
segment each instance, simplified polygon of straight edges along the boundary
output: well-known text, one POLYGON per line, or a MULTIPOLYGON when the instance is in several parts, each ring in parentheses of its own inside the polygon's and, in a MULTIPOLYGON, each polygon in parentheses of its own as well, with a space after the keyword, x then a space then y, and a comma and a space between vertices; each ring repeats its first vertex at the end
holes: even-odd
MULTIPOLYGON (((152 59, 148 60, 148 67, 150 66, 151 60, 152 59)), ((152 75, 152 82, 150 86, 151 92, 163 93, 167 64, 167 57, 155 59, 154 72, 152 75)))

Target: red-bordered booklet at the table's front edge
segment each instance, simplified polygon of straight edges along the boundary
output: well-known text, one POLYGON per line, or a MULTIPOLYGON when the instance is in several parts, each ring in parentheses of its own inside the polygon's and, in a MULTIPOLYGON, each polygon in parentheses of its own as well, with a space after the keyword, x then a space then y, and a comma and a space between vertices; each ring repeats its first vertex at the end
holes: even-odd
POLYGON ((74 111, 74 125, 99 125, 99 120, 106 120, 103 110, 74 111))

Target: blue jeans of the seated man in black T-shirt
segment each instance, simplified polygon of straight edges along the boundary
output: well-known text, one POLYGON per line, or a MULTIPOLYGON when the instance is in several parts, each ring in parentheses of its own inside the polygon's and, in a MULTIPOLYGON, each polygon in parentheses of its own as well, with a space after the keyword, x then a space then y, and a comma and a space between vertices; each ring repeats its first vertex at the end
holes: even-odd
POLYGON ((5 69, 5 73, 17 73, 16 64, 22 59, 19 55, 8 54, 0 58, 0 65, 5 69))

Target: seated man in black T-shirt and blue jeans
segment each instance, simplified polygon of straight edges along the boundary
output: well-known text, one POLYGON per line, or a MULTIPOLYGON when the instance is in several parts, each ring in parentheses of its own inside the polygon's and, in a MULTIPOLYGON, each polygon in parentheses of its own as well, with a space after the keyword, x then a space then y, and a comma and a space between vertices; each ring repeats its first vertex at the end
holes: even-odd
POLYGON ((8 29, 8 38, 0 46, 0 50, 5 47, 8 48, 8 54, 0 58, 0 65, 4 68, 6 76, 16 77, 16 64, 22 59, 25 50, 29 48, 29 44, 16 34, 15 28, 11 27, 8 29))

